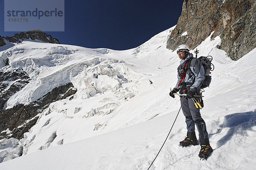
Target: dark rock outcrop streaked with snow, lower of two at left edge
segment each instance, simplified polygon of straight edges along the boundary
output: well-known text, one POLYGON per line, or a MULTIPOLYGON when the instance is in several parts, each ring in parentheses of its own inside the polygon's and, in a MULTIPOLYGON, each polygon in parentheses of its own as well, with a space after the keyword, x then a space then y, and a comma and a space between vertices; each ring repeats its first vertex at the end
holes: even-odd
POLYGON ((11 137, 22 139, 23 134, 28 132, 37 122, 38 113, 41 113, 50 103, 65 99, 75 93, 76 90, 73 89, 73 84, 70 82, 54 88, 47 95, 29 105, 19 104, 13 108, 0 111, 0 132, 2 132, 0 133, 0 139, 11 137), (6 130, 7 128, 9 132, 6 130))

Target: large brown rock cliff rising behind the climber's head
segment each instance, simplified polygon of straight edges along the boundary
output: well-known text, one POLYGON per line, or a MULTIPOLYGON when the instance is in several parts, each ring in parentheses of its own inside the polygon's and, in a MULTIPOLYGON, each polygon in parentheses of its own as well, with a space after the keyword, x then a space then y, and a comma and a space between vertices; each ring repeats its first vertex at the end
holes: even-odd
POLYGON ((220 36, 219 48, 233 60, 256 48, 256 1, 184 0, 166 47, 175 50, 180 44, 186 44, 194 49, 213 31, 211 38, 220 36))

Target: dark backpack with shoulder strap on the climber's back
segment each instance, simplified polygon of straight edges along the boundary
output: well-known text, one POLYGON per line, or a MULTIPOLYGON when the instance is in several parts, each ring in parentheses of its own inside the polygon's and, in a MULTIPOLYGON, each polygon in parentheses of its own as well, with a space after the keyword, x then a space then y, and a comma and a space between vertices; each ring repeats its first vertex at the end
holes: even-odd
MULTIPOLYGON (((202 82, 202 85, 200 88, 206 88, 206 87, 209 87, 212 81, 212 76, 210 75, 211 74, 210 71, 214 70, 214 65, 212 64, 212 56, 207 56, 207 57, 201 56, 198 59, 201 61, 204 67, 204 81, 202 82)), ((190 69, 191 60, 192 59, 190 59, 188 62, 188 69, 192 73, 190 69)))

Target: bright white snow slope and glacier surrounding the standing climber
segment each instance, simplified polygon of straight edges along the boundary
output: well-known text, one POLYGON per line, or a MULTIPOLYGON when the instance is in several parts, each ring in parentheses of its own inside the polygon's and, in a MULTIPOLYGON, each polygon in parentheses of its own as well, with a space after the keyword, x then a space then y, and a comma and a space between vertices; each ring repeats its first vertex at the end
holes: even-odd
MULTIPOLYGON (((1 163, 0 169, 147 169, 180 108, 179 98, 169 96, 180 61, 175 51, 166 49, 173 29, 126 51, 23 42, 0 52, 12 67, 23 67, 33 78, 9 99, 9 107, 33 101, 66 82, 78 90, 72 100, 53 102, 39 115, 23 139, 26 155, 1 163)), ((210 41, 209 36, 197 47, 199 56, 212 55, 215 65, 201 110, 212 156, 200 161, 200 146, 178 146, 186 135, 180 112, 151 170, 256 166, 256 49, 231 61, 215 48, 220 43, 219 37, 210 41)))

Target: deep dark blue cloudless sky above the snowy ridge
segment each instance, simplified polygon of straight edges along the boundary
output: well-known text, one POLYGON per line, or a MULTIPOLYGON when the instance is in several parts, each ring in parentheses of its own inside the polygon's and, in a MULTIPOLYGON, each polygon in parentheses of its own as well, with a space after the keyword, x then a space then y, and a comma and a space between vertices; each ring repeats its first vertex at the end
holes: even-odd
MULTIPOLYGON (((65 31, 46 32, 62 44, 124 50, 177 24, 183 0, 65 0, 65 31)), ((0 0, 0 35, 4 0, 0 0)))

